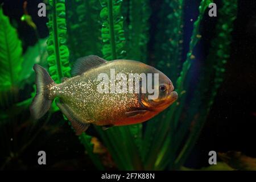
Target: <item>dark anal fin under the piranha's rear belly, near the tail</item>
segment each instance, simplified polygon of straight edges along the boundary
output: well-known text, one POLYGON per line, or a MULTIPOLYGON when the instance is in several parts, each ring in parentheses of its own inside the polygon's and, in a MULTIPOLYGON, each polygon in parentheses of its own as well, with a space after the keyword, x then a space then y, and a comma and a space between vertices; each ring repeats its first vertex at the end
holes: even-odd
POLYGON ((60 100, 56 100, 56 105, 71 122, 73 129, 76 131, 76 135, 81 135, 88 129, 90 124, 82 122, 81 119, 76 116, 71 107, 69 107, 67 104, 64 104, 60 100))

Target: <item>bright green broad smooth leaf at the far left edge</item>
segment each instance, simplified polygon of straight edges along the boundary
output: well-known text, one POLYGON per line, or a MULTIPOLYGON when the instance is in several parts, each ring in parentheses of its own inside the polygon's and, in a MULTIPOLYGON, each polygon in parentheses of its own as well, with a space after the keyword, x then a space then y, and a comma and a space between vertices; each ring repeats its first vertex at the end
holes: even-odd
POLYGON ((22 69, 22 43, 0 7, 0 90, 17 86, 22 69))

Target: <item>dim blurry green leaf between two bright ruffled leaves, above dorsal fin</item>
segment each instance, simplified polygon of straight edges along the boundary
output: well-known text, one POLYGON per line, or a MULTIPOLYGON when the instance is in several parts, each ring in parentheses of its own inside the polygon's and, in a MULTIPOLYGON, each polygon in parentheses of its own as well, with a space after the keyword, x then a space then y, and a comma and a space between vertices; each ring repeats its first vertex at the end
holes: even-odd
POLYGON ((85 55, 101 56, 100 10, 99 1, 66 1, 67 46, 71 61, 85 55))

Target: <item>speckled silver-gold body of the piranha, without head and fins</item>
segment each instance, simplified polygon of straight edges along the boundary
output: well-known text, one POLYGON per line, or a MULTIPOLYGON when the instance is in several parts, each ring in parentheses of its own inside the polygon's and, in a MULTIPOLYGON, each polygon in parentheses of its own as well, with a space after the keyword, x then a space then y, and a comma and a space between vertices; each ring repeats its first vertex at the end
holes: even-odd
POLYGON ((125 115, 128 111, 142 107, 138 94, 99 93, 97 91, 97 85, 101 82, 97 80, 98 75, 106 73, 110 77, 110 69, 115 69, 116 74, 125 73, 127 75, 129 73, 160 73, 157 69, 138 61, 108 61, 79 76, 69 78, 61 84, 51 85, 49 97, 59 97, 61 102, 72 109, 75 117, 84 123, 128 125, 153 117, 155 113, 133 121, 125 115))

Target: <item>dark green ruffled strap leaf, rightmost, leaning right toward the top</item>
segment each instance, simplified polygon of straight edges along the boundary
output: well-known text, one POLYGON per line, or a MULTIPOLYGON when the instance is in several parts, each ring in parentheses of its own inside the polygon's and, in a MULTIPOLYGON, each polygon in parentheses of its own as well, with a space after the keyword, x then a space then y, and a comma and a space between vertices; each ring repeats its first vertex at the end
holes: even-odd
MULTIPOLYGON (((197 87, 197 90, 201 90, 200 94, 203 94, 205 97, 199 96, 199 92, 195 93, 195 103, 201 99, 201 102, 197 103, 194 107, 199 110, 199 112, 197 114, 195 126, 193 126, 193 130, 189 134, 188 141, 176 159, 177 167, 184 163, 192 150, 192 147, 204 126, 204 122, 207 119, 217 90, 224 80, 225 64, 229 59, 230 44, 232 42, 231 32, 233 31, 233 22, 237 17, 237 0, 223 1, 223 5, 218 14, 220 18, 216 24, 217 35, 211 42, 211 49, 206 61, 207 64, 202 73, 205 77, 200 80, 200 84, 197 87), (214 69, 212 69, 212 67, 214 69), (214 84, 210 84, 210 80, 214 80, 214 84)), ((191 110, 191 113, 189 113, 189 115, 195 115, 195 110, 191 110)))

